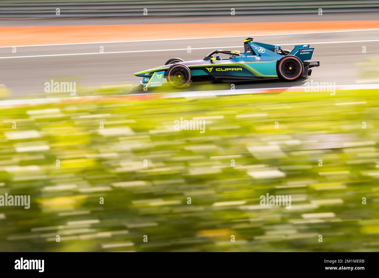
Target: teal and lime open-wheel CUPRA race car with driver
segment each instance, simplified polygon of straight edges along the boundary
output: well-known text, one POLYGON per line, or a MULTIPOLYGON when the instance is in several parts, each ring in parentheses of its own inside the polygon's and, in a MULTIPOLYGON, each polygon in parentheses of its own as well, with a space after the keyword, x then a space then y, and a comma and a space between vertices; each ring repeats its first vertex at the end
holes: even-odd
POLYGON ((166 79, 174 87, 183 88, 197 81, 238 82, 277 78, 294 81, 301 76, 311 75, 310 68, 320 65, 319 61, 308 61, 315 50, 309 44, 295 45, 290 51, 277 45, 253 42, 250 37, 243 43, 242 53, 236 50, 215 50, 202 60, 186 62, 172 58, 163 66, 134 75, 143 77, 140 84, 145 87, 159 87, 166 79), (216 54, 227 54, 229 57, 213 57, 216 54))

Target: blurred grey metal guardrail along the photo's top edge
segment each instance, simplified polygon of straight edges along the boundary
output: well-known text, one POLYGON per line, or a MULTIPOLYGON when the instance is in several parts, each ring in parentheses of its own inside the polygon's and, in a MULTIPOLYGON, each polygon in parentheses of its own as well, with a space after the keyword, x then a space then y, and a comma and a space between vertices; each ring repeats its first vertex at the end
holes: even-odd
POLYGON ((309 14, 319 8, 325 13, 379 11, 379 2, 300 1, 300 0, 206 0, 206 1, 11 1, 0 4, 0 17, 142 17, 148 16, 227 16, 261 14, 309 14))

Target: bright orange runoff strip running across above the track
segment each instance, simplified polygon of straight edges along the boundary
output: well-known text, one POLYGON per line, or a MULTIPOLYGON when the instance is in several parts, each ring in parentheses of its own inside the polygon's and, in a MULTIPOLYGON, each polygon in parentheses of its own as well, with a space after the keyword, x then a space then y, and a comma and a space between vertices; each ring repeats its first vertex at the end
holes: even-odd
POLYGON ((379 29, 379 20, 0 27, 0 46, 379 29))

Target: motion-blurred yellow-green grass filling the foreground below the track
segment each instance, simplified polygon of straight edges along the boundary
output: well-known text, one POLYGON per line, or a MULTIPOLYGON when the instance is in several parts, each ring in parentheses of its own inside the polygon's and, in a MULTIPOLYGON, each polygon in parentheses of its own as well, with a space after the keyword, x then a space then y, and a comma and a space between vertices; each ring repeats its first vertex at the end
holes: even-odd
POLYGON ((378 251, 378 94, 1 107, 0 195, 31 208, 0 207, 0 251, 378 251), (259 206, 266 193, 292 208, 259 206))

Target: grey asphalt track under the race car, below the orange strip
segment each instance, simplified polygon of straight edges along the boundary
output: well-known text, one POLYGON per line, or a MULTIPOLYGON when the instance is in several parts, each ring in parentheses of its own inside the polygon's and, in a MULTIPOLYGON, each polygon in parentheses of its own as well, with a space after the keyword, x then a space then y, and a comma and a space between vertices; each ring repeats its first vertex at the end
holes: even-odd
MULTIPOLYGON (((232 34, 231 34, 232 35, 232 34)), ((315 47, 312 60, 320 61, 312 76, 295 82, 257 81, 236 84, 235 89, 302 86, 304 82, 336 82, 336 85, 378 83, 379 76, 367 79, 362 61, 378 60, 379 30, 337 31, 326 33, 280 34, 247 36, 255 41, 280 45, 291 50, 295 44, 310 43, 315 47), (366 53, 362 53, 362 47, 366 53)), ((246 37, 247 37, 246 36, 246 37)), ((245 37, 193 38, 178 40, 151 40, 103 42, 69 45, 45 45, 0 48, 0 84, 14 96, 42 92, 44 83, 55 80, 76 81, 78 85, 136 84, 133 92, 143 92, 141 78, 136 71, 163 65, 172 57, 185 61, 203 59, 216 49, 243 50, 245 37), (100 47, 103 52, 100 53, 100 47), (187 48, 191 47, 191 53, 187 48)), ((53 44, 53 42, 52 42, 53 44)), ((215 89, 229 89, 229 84, 215 84, 215 89)), ((197 90, 192 84, 186 90, 197 90)))

